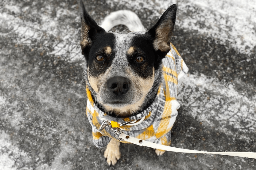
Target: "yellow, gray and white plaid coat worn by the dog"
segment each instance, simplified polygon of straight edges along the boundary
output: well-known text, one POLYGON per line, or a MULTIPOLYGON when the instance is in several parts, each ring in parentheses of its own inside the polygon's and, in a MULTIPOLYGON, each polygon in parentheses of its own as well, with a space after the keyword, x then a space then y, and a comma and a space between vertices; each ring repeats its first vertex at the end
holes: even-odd
MULTIPOLYGON (((87 117, 92 126, 92 136, 95 146, 105 147, 111 138, 115 138, 113 132, 108 128, 99 131, 102 120, 108 119, 113 122, 125 123, 134 120, 140 120, 146 116, 144 121, 134 126, 119 127, 125 134, 147 140, 162 145, 170 145, 173 123, 178 114, 177 109, 180 104, 177 102, 177 85, 178 79, 188 72, 188 67, 184 63, 180 54, 170 44, 171 50, 163 59, 163 81, 158 89, 154 102, 144 111, 128 118, 115 118, 101 111, 94 103, 91 92, 87 88, 87 117)), ((116 124, 116 123, 115 123, 116 124)))

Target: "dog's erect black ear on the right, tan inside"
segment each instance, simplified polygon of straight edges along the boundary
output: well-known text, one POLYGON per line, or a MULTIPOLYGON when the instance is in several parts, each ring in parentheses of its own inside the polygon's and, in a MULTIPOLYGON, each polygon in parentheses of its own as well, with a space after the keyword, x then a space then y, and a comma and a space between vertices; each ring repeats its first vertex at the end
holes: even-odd
POLYGON ((148 34, 153 37, 153 46, 156 51, 160 50, 165 55, 170 51, 170 40, 176 20, 177 6, 170 6, 157 23, 149 29, 148 34))

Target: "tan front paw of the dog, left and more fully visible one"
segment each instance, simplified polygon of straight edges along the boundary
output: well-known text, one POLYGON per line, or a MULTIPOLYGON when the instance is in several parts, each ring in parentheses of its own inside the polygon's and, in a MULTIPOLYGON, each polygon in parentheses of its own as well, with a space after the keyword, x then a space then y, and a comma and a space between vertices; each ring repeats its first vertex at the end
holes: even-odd
POLYGON ((111 141, 107 144, 107 149, 104 152, 104 157, 107 158, 108 165, 114 165, 121 157, 121 153, 119 151, 120 142, 117 140, 111 139, 111 141))

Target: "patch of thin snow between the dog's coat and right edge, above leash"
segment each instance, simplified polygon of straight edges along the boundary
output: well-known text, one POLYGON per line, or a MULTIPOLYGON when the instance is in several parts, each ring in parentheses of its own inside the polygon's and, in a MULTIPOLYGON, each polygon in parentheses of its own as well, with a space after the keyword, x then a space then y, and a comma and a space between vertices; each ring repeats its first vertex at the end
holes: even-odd
POLYGON ((204 74, 184 76, 179 81, 178 91, 181 106, 190 109, 185 114, 206 122, 209 127, 231 135, 237 132, 256 132, 256 95, 247 97, 235 89, 234 85, 204 74), (233 126, 236 132, 231 132, 227 126, 233 126))

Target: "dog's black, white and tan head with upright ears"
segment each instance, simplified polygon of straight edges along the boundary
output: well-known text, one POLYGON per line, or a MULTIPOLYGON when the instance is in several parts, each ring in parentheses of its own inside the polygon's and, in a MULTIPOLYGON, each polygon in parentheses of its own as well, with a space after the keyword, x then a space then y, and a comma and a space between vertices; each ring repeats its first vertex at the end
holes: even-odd
POLYGON ((170 50, 176 5, 145 34, 106 32, 81 6, 81 48, 85 77, 95 102, 108 113, 132 115, 152 102, 161 78, 161 60, 170 50))

